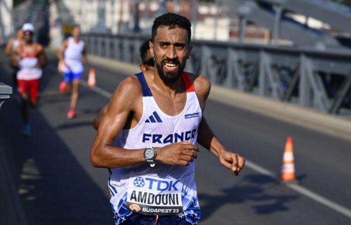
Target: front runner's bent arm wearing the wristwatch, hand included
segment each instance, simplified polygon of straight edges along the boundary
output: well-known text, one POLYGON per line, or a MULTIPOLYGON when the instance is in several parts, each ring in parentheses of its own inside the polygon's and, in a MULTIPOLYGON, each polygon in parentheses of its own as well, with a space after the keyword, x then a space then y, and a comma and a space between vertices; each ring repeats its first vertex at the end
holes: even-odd
MULTIPOLYGON (((136 120, 142 115, 140 83, 135 76, 123 80, 114 91, 106 114, 103 117, 91 149, 91 163, 95 167, 120 168, 146 163, 144 149, 124 149, 112 143, 122 130, 128 115, 133 113, 136 120)), ((189 165, 197 157, 192 151, 199 147, 190 142, 178 142, 155 148, 156 161, 165 164, 189 165)))

